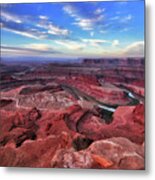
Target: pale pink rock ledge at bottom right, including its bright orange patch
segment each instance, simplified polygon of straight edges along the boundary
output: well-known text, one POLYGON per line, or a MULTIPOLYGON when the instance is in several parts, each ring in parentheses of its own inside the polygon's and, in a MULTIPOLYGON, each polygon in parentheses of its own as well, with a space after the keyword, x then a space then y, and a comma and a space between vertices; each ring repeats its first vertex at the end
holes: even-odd
POLYGON ((144 148, 126 138, 92 143, 81 151, 60 149, 51 160, 55 168, 144 169, 144 148))

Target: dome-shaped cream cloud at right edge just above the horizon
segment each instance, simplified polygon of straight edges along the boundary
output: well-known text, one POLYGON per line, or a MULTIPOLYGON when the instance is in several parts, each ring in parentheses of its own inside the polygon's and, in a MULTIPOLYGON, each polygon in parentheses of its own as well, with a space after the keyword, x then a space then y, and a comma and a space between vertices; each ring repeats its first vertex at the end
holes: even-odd
POLYGON ((126 56, 144 56, 144 41, 137 41, 125 48, 123 54, 126 56))

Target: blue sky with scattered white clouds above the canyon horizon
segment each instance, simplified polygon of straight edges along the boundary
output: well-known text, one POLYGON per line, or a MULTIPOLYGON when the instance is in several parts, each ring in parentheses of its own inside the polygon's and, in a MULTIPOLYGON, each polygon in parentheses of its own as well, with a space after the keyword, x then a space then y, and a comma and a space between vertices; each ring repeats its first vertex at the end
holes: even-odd
POLYGON ((1 56, 144 56, 144 1, 1 4, 1 56))

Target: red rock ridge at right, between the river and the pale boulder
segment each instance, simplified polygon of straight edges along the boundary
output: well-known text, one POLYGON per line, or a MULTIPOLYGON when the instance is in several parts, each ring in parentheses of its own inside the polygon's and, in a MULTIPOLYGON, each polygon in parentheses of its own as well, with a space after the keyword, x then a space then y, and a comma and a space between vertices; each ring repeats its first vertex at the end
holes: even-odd
MULTIPOLYGON (((72 128, 74 124, 76 131, 93 140, 126 137, 133 142, 142 144, 144 141, 144 124, 137 123, 137 117, 139 122, 144 122, 144 116, 137 116, 139 110, 143 111, 143 105, 120 106, 113 114, 112 123, 108 125, 101 118, 91 114, 91 112, 88 112, 85 117, 84 115, 81 116, 81 114, 79 116, 79 113, 75 112, 75 116, 77 116, 76 122, 74 121, 75 118, 72 118, 73 115, 68 116, 66 122, 72 124, 72 126, 68 125, 72 130, 75 130, 72 128)), ((81 110, 81 112, 85 114, 85 111, 81 110)))

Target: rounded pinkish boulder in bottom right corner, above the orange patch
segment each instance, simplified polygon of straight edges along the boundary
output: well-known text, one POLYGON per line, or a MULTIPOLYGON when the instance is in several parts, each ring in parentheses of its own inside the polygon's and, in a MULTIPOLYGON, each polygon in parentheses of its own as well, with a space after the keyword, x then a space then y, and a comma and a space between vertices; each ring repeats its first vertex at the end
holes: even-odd
POLYGON ((144 148, 126 138, 96 141, 87 151, 112 161, 112 169, 144 169, 144 148))

